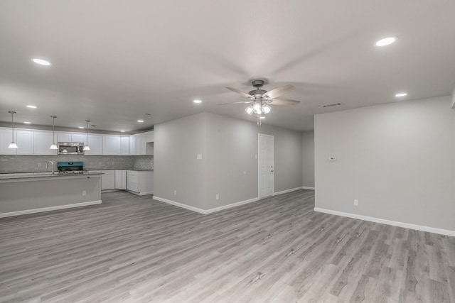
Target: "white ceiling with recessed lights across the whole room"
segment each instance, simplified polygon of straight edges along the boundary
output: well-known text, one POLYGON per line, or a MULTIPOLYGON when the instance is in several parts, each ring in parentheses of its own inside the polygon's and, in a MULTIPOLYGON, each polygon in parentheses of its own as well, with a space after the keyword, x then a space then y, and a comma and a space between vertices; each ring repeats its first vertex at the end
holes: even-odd
POLYGON ((397 92, 449 95, 454 11, 454 0, 2 0, 0 121, 11 110, 18 123, 52 125, 55 115, 56 126, 90 119, 106 131, 202 111, 255 121, 243 104, 217 104, 242 101, 225 87, 248 92, 260 78, 266 90, 294 84, 282 98, 301 100, 273 106, 264 123, 311 130, 314 114, 395 102, 397 92), (397 43, 374 46, 389 35, 397 43))

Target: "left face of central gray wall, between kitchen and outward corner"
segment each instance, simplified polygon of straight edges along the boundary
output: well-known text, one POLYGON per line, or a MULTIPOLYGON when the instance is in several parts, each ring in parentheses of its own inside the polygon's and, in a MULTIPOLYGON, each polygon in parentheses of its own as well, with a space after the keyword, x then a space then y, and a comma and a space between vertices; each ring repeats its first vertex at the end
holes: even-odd
POLYGON ((204 114, 154 126, 154 196, 205 209, 205 160, 197 154, 205 155, 204 114))

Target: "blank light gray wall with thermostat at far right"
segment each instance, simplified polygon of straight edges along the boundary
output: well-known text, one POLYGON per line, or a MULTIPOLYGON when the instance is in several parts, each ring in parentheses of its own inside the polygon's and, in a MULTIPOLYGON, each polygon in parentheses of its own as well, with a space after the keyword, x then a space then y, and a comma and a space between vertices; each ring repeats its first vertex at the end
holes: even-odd
POLYGON ((316 208, 455 231, 450 97, 316 115, 315 153, 316 208))

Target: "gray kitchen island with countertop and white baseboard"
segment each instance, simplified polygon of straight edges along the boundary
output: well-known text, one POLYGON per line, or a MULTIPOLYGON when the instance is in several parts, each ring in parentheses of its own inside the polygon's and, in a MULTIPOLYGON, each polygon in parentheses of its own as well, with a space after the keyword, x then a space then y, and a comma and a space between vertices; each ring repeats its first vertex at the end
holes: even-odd
POLYGON ((101 175, 0 174, 0 218, 100 204, 101 175))

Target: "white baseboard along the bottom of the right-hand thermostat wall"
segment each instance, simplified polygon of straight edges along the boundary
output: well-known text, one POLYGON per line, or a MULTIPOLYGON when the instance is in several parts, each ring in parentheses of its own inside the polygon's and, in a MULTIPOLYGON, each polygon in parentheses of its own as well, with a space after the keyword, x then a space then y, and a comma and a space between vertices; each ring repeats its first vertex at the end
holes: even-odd
POLYGON ((455 231, 449 231, 447 229, 434 228, 434 227, 422 226, 422 225, 417 225, 417 224, 409 224, 409 223, 391 221, 391 220, 386 220, 386 219, 379 219, 379 218, 375 218, 373 216, 350 214, 350 213, 346 213, 343 211, 333 211, 331 209, 321 209, 319 207, 315 207, 314 211, 323 212, 326 214, 334 214, 336 216, 346 216, 348 218, 359 219, 359 220, 364 220, 364 221, 371 221, 371 222, 375 222, 375 223, 382 223, 382 224, 387 224, 387 225, 392 225, 392 226, 410 228, 410 229, 415 229, 417 231, 427 231, 429 233, 439 233, 441 235, 446 235, 446 236, 455 236, 455 231))

